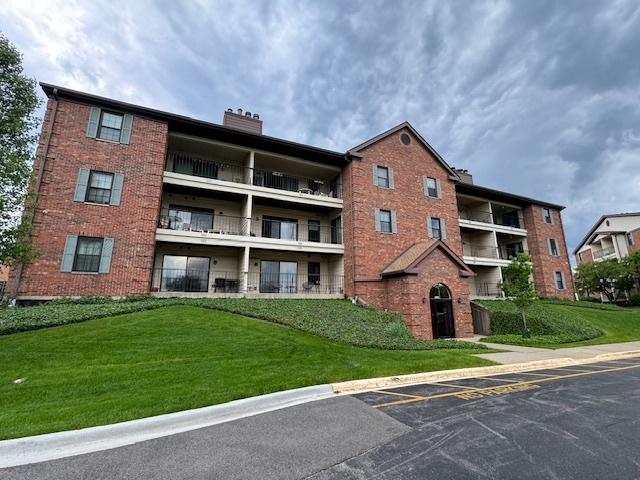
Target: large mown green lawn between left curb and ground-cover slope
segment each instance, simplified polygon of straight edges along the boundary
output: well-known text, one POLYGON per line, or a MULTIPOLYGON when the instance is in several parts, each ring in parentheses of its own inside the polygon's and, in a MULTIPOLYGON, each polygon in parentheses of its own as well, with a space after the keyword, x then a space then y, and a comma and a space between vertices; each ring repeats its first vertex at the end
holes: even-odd
POLYGON ((0 438, 309 385, 490 365, 471 356, 487 352, 358 348, 192 306, 16 333, 0 337, 0 438))

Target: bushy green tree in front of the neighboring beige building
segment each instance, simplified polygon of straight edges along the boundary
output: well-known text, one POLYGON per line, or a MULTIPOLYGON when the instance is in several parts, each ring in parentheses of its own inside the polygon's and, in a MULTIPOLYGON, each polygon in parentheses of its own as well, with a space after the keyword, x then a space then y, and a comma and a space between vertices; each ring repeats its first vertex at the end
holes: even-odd
POLYGON ((617 258, 581 263, 575 279, 579 291, 587 295, 601 293, 609 303, 615 303, 622 292, 628 292, 634 285, 627 261, 621 262, 617 258))

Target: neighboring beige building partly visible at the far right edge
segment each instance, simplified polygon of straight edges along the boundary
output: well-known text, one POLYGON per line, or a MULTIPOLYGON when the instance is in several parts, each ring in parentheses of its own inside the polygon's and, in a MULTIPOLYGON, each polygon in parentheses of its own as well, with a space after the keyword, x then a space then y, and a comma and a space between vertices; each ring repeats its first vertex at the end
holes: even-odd
POLYGON ((573 251, 576 263, 626 257, 640 248, 640 212, 603 215, 573 251))

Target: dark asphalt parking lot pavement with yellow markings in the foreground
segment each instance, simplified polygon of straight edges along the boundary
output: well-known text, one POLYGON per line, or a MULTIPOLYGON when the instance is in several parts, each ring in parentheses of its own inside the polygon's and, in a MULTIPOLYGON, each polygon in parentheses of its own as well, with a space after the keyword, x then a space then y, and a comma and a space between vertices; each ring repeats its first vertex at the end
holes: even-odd
POLYGON ((640 356, 334 395, 17 479, 635 479, 640 356))

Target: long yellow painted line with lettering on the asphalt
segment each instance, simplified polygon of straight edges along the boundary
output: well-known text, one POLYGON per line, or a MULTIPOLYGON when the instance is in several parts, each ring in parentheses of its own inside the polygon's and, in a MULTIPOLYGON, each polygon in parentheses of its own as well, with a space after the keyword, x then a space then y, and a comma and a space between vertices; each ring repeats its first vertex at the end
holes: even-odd
MULTIPOLYGON (((460 391, 460 392, 447 392, 447 393, 439 393, 436 395, 429 395, 429 396, 424 396, 424 397, 419 397, 417 395, 406 395, 407 397, 413 397, 413 398, 408 398, 406 400, 397 400, 395 402, 388 402, 388 403, 381 403, 379 405, 372 405, 373 408, 382 408, 382 407, 390 407, 392 405, 404 405, 406 403, 413 403, 413 402, 420 402, 423 400, 433 400, 436 398, 445 398, 445 397, 459 397, 459 398, 463 398, 464 400, 471 400, 473 398, 482 398, 485 395, 489 395, 489 396, 493 396, 493 395, 503 395, 505 393, 513 393, 516 391, 522 391, 522 390, 529 390, 529 389, 533 389, 533 388, 540 388, 539 385, 537 385, 538 383, 542 383, 542 382, 549 382, 552 380, 562 380, 564 378, 571 378, 571 377, 582 377, 585 375, 595 375, 598 373, 607 373, 607 372, 617 372, 617 371, 621 371, 621 370, 629 370, 632 368, 640 368, 640 364, 637 365, 629 365, 627 367, 616 367, 616 368, 609 368, 607 370, 591 370, 591 371, 587 371, 587 372, 578 372, 578 373, 573 373, 573 374, 567 374, 567 375, 556 375, 554 377, 548 377, 548 378, 538 378, 538 379, 534 379, 534 380, 530 380, 530 381, 526 381, 526 382, 518 382, 518 383, 513 383, 510 385, 500 385, 497 387, 484 387, 484 388, 476 388, 475 390, 472 391, 460 391)), ((554 368, 554 370, 563 370, 562 368, 554 368)), ((388 395, 400 395, 397 393, 391 393, 391 392, 384 392, 383 390, 374 390, 377 393, 385 393, 388 395)))

